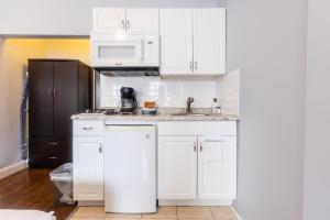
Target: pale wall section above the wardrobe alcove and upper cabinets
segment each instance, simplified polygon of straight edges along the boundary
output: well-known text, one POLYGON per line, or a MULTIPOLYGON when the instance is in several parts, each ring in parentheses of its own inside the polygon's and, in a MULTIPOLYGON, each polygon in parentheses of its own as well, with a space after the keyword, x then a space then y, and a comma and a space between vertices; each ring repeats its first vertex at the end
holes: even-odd
POLYGON ((217 7, 226 0, 1 0, 0 35, 89 35, 95 7, 217 7))

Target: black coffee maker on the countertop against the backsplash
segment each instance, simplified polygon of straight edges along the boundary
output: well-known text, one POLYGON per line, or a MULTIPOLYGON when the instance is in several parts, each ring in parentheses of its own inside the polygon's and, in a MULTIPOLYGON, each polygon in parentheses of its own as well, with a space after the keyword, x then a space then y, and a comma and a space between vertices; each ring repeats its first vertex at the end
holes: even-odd
POLYGON ((135 113, 138 101, 134 89, 131 87, 121 87, 120 96, 120 113, 135 113))

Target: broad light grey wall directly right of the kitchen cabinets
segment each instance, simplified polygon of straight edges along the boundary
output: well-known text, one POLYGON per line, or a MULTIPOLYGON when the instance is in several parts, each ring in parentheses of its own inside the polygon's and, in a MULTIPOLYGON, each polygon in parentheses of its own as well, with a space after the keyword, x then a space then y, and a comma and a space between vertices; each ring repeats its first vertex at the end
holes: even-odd
POLYGON ((301 220, 306 18, 307 0, 228 1, 228 69, 241 72, 244 220, 301 220))

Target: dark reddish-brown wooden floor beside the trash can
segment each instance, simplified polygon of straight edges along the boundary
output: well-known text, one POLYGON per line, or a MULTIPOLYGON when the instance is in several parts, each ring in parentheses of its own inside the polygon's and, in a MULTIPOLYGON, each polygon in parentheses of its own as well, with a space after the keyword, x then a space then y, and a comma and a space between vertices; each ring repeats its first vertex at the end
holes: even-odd
POLYGON ((75 209, 54 206, 51 169, 24 169, 0 180, 0 209, 35 209, 55 211, 56 220, 65 220, 75 209))

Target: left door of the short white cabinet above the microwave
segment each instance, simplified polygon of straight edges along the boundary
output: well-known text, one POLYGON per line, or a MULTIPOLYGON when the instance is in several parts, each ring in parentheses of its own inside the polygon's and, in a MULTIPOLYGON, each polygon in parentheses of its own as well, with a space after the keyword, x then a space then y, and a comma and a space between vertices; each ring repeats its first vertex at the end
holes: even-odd
POLYGON ((125 31, 125 9, 102 9, 92 10, 94 31, 125 31))

